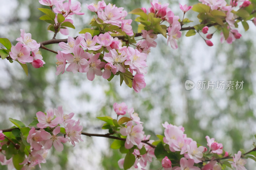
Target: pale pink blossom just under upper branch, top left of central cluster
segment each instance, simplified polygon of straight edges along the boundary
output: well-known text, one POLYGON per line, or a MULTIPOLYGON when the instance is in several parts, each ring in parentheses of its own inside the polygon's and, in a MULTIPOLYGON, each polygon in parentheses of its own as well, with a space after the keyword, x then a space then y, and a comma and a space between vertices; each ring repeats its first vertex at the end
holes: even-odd
POLYGON ((76 40, 74 38, 68 36, 68 43, 65 43, 65 42, 59 43, 60 48, 64 49, 61 52, 64 54, 71 53, 75 46, 80 46, 82 39, 83 39, 83 37, 81 37, 81 36, 78 36, 76 38, 76 40))

